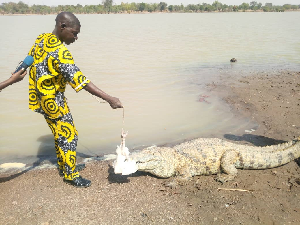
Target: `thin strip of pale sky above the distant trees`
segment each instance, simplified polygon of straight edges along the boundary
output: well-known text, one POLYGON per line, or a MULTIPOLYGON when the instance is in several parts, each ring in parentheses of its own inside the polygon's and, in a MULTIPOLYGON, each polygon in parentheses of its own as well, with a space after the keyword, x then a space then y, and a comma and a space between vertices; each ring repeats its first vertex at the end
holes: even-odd
MULTIPOLYGON (((16 2, 18 3, 20 0, 0 0, 0 4, 3 2, 16 2)), ((121 2, 124 3, 131 3, 131 2, 136 2, 136 3, 159 3, 159 2, 166 2, 168 5, 181 5, 184 4, 184 6, 188 4, 201 4, 202 2, 205 2, 207 4, 212 4, 215 0, 114 0, 113 4, 121 4, 121 2)), ((240 5, 243 2, 250 3, 251 1, 257 1, 257 3, 261 2, 262 5, 265 5, 266 2, 270 2, 273 5, 283 5, 283 4, 292 4, 292 5, 299 5, 300 0, 218 0, 222 4, 226 5, 240 5)), ((102 0, 23 0, 25 4, 28 4, 29 6, 32 6, 33 4, 39 4, 39 5, 48 5, 48 6, 57 6, 59 4, 61 5, 76 5, 76 4, 81 4, 81 5, 98 5, 102 3, 102 0)))

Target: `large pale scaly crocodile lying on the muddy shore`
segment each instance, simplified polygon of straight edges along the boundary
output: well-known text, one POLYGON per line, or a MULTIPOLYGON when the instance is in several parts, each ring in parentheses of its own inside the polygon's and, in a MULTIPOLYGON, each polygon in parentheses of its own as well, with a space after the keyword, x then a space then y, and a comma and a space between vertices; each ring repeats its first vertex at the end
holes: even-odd
POLYGON ((235 179, 237 169, 270 169, 298 157, 300 137, 264 147, 244 146, 218 138, 199 138, 174 147, 152 146, 132 153, 127 159, 131 166, 126 167, 125 161, 122 174, 128 175, 137 170, 149 172, 169 178, 164 185, 171 188, 188 184, 192 176, 217 174, 215 180, 223 184, 235 179))

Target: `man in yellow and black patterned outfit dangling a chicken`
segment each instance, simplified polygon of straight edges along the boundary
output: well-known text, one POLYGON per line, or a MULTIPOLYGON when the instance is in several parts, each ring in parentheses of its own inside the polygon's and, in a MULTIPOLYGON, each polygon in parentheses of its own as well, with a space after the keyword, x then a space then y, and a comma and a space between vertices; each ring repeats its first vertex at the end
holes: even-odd
POLYGON ((45 117, 54 135, 58 173, 64 177, 64 182, 75 187, 88 187, 91 181, 78 173, 85 164, 75 165, 78 133, 64 97, 66 83, 76 92, 85 89, 102 98, 113 109, 123 108, 123 105, 119 98, 107 95, 90 82, 64 46, 64 43, 69 45, 78 39, 80 22, 76 16, 61 12, 55 22, 53 32, 39 35, 28 53, 34 57, 29 70, 29 108, 45 117))

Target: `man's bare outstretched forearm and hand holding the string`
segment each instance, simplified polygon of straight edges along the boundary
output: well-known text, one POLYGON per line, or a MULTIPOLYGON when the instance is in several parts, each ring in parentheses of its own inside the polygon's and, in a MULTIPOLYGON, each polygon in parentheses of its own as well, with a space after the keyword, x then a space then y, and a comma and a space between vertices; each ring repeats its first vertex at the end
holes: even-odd
POLYGON ((104 101, 107 101, 110 104, 110 107, 112 107, 113 109, 123 108, 123 105, 119 98, 107 95, 104 91, 100 90, 91 81, 84 87, 84 89, 91 95, 95 95, 99 98, 102 98, 104 101))

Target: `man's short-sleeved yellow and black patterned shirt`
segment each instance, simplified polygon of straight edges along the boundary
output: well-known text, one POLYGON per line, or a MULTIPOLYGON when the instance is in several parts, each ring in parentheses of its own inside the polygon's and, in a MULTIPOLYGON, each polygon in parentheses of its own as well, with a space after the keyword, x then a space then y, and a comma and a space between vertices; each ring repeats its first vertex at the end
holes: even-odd
POLYGON ((64 98, 66 83, 80 91, 90 82, 73 57, 52 33, 41 34, 30 49, 34 63, 29 70, 29 109, 55 119, 69 113, 64 98))

